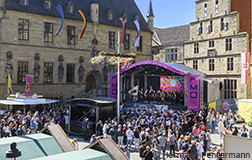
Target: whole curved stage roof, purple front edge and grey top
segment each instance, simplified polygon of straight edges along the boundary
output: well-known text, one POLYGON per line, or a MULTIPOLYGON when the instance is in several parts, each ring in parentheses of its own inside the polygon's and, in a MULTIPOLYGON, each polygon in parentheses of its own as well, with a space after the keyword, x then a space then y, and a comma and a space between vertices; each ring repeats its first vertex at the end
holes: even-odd
MULTIPOLYGON (((196 69, 193 69, 191 67, 185 66, 183 64, 176 64, 176 63, 166 63, 166 62, 159 62, 159 61, 140 61, 137 63, 134 63, 130 65, 129 67, 122 69, 120 73, 124 73, 126 71, 129 71, 131 69, 136 68, 137 71, 147 71, 148 73, 150 72, 149 69, 146 69, 144 66, 154 66, 157 69, 158 68, 163 68, 166 70, 169 70, 173 72, 174 74, 177 75, 188 75, 188 74, 196 74, 200 75, 202 77, 205 77, 205 73, 198 71, 196 69)), ((155 71, 156 72, 156 71, 155 71)))

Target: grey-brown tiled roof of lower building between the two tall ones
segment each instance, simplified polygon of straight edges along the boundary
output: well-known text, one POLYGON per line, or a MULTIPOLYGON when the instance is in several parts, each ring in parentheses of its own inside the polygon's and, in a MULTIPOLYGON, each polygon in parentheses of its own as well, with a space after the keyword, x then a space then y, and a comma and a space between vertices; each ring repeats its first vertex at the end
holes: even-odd
POLYGON ((154 29, 154 32, 156 32, 158 37, 155 39, 156 40, 159 39, 159 42, 162 45, 167 45, 170 43, 183 43, 185 41, 190 40, 189 25, 164 28, 164 29, 154 29))

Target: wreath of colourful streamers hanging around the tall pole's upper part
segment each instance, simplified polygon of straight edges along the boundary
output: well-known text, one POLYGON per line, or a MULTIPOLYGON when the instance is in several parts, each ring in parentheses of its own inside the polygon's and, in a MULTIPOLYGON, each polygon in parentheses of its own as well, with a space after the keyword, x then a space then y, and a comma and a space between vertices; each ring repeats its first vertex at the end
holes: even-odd
POLYGON ((124 69, 134 62, 134 54, 127 54, 127 57, 118 56, 122 54, 112 54, 112 53, 105 53, 101 52, 99 56, 93 57, 90 59, 89 63, 93 66, 98 64, 111 64, 115 65, 120 63, 121 69, 124 69))

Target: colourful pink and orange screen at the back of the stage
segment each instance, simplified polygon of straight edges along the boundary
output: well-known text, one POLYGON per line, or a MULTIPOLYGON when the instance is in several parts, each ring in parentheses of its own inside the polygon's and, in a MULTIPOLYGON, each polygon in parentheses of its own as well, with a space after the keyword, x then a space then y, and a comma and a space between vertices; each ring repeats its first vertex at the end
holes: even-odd
POLYGON ((167 91, 184 91, 184 76, 160 76, 160 89, 167 91))

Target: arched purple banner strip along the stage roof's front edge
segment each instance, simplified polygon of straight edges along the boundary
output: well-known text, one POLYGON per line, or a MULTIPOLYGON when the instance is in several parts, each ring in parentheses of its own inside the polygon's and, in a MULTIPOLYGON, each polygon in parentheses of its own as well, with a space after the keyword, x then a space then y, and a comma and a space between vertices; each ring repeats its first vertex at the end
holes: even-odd
POLYGON ((132 65, 130 65, 129 67, 127 68, 124 68, 122 70, 120 70, 120 73, 123 73, 123 72, 126 72, 128 70, 130 70, 131 68, 134 68, 134 67, 137 67, 137 66, 141 66, 141 65, 154 65, 154 66, 159 66, 159 67, 162 67, 164 69, 167 69, 167 70, 170 70, 174 73, 177 73, 179 75, 185 75, 186 73, 175 68, 175 67, 172 67, 172 64, 170 63, 164 63, 164 62, 158 62, 158 61, 141 61, 141 62, 137 62, 137 63, 134 63, 132 65))

